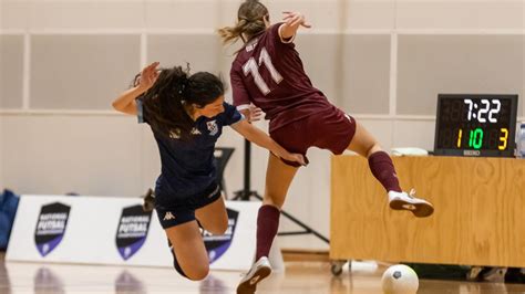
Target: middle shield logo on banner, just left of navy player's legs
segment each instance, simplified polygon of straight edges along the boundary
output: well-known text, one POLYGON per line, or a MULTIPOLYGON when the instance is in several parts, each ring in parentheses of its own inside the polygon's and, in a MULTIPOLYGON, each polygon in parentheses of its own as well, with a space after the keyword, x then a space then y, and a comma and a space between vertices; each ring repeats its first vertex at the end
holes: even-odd
POLYGON ((151 219, 152 212, 144 212, 138 204, 122 210, 116 230, 116 248, 124 260, 133 256, 146 241, 151 219))

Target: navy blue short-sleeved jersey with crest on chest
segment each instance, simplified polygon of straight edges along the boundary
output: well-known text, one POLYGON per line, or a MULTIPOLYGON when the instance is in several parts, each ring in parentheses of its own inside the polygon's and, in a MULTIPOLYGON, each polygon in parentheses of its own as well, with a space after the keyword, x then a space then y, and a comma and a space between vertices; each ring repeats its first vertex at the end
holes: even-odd
MULTIPOLYGON (((142 99, 136 101, 138 123, 147 123, 142 99)), ((240 122, 244 116, 235 106, 224 103, 224 113, 195 120, 192 140, 184 141, 176 136, 166 137, 153 128, 153 135, 161 153, 162 171, 155 187, 158 204, 169 203, 169 199, 183 199, 204 191, 216 179, 214 160, 215 143, 223 126, 240 122)))

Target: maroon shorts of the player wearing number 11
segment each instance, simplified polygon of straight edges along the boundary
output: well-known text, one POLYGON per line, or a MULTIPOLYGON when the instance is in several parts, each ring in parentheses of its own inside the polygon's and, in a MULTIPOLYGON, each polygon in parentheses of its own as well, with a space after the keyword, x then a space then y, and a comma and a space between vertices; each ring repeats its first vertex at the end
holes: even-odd
MULTIPOLYGON (((290 153, 306 157, 310 147, 328 149, 340 155, 356 134, 356 119, 336 106, 287 124, 270 132, 270 137, 290 153)), ((297 162, 282 160, 290 166, 297 162)))

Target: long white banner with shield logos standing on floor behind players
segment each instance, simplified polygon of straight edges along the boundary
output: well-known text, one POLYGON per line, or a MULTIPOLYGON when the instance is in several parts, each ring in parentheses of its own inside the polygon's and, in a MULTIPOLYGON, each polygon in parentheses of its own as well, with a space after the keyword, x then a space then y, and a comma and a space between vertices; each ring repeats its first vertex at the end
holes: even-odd
MULTIPOLYGON (((260 202, 226 201, 228 229, 203 231, 210 269, 247 271, 260 202)), ((8 261, 173 266, 157 213, 141 198, 21 196, 8 261)))

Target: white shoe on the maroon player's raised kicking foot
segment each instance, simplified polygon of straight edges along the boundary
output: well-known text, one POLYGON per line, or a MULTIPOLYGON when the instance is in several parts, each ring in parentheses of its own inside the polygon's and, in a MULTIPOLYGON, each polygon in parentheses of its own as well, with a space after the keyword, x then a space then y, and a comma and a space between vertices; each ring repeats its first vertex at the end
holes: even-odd
POLYGON ((434 207, 426 200, 415 197, 415 190, 406 192, 389 191, 390 208, 394 210, 409 210, 418 218, 425 218, 434 212, 434 207))

